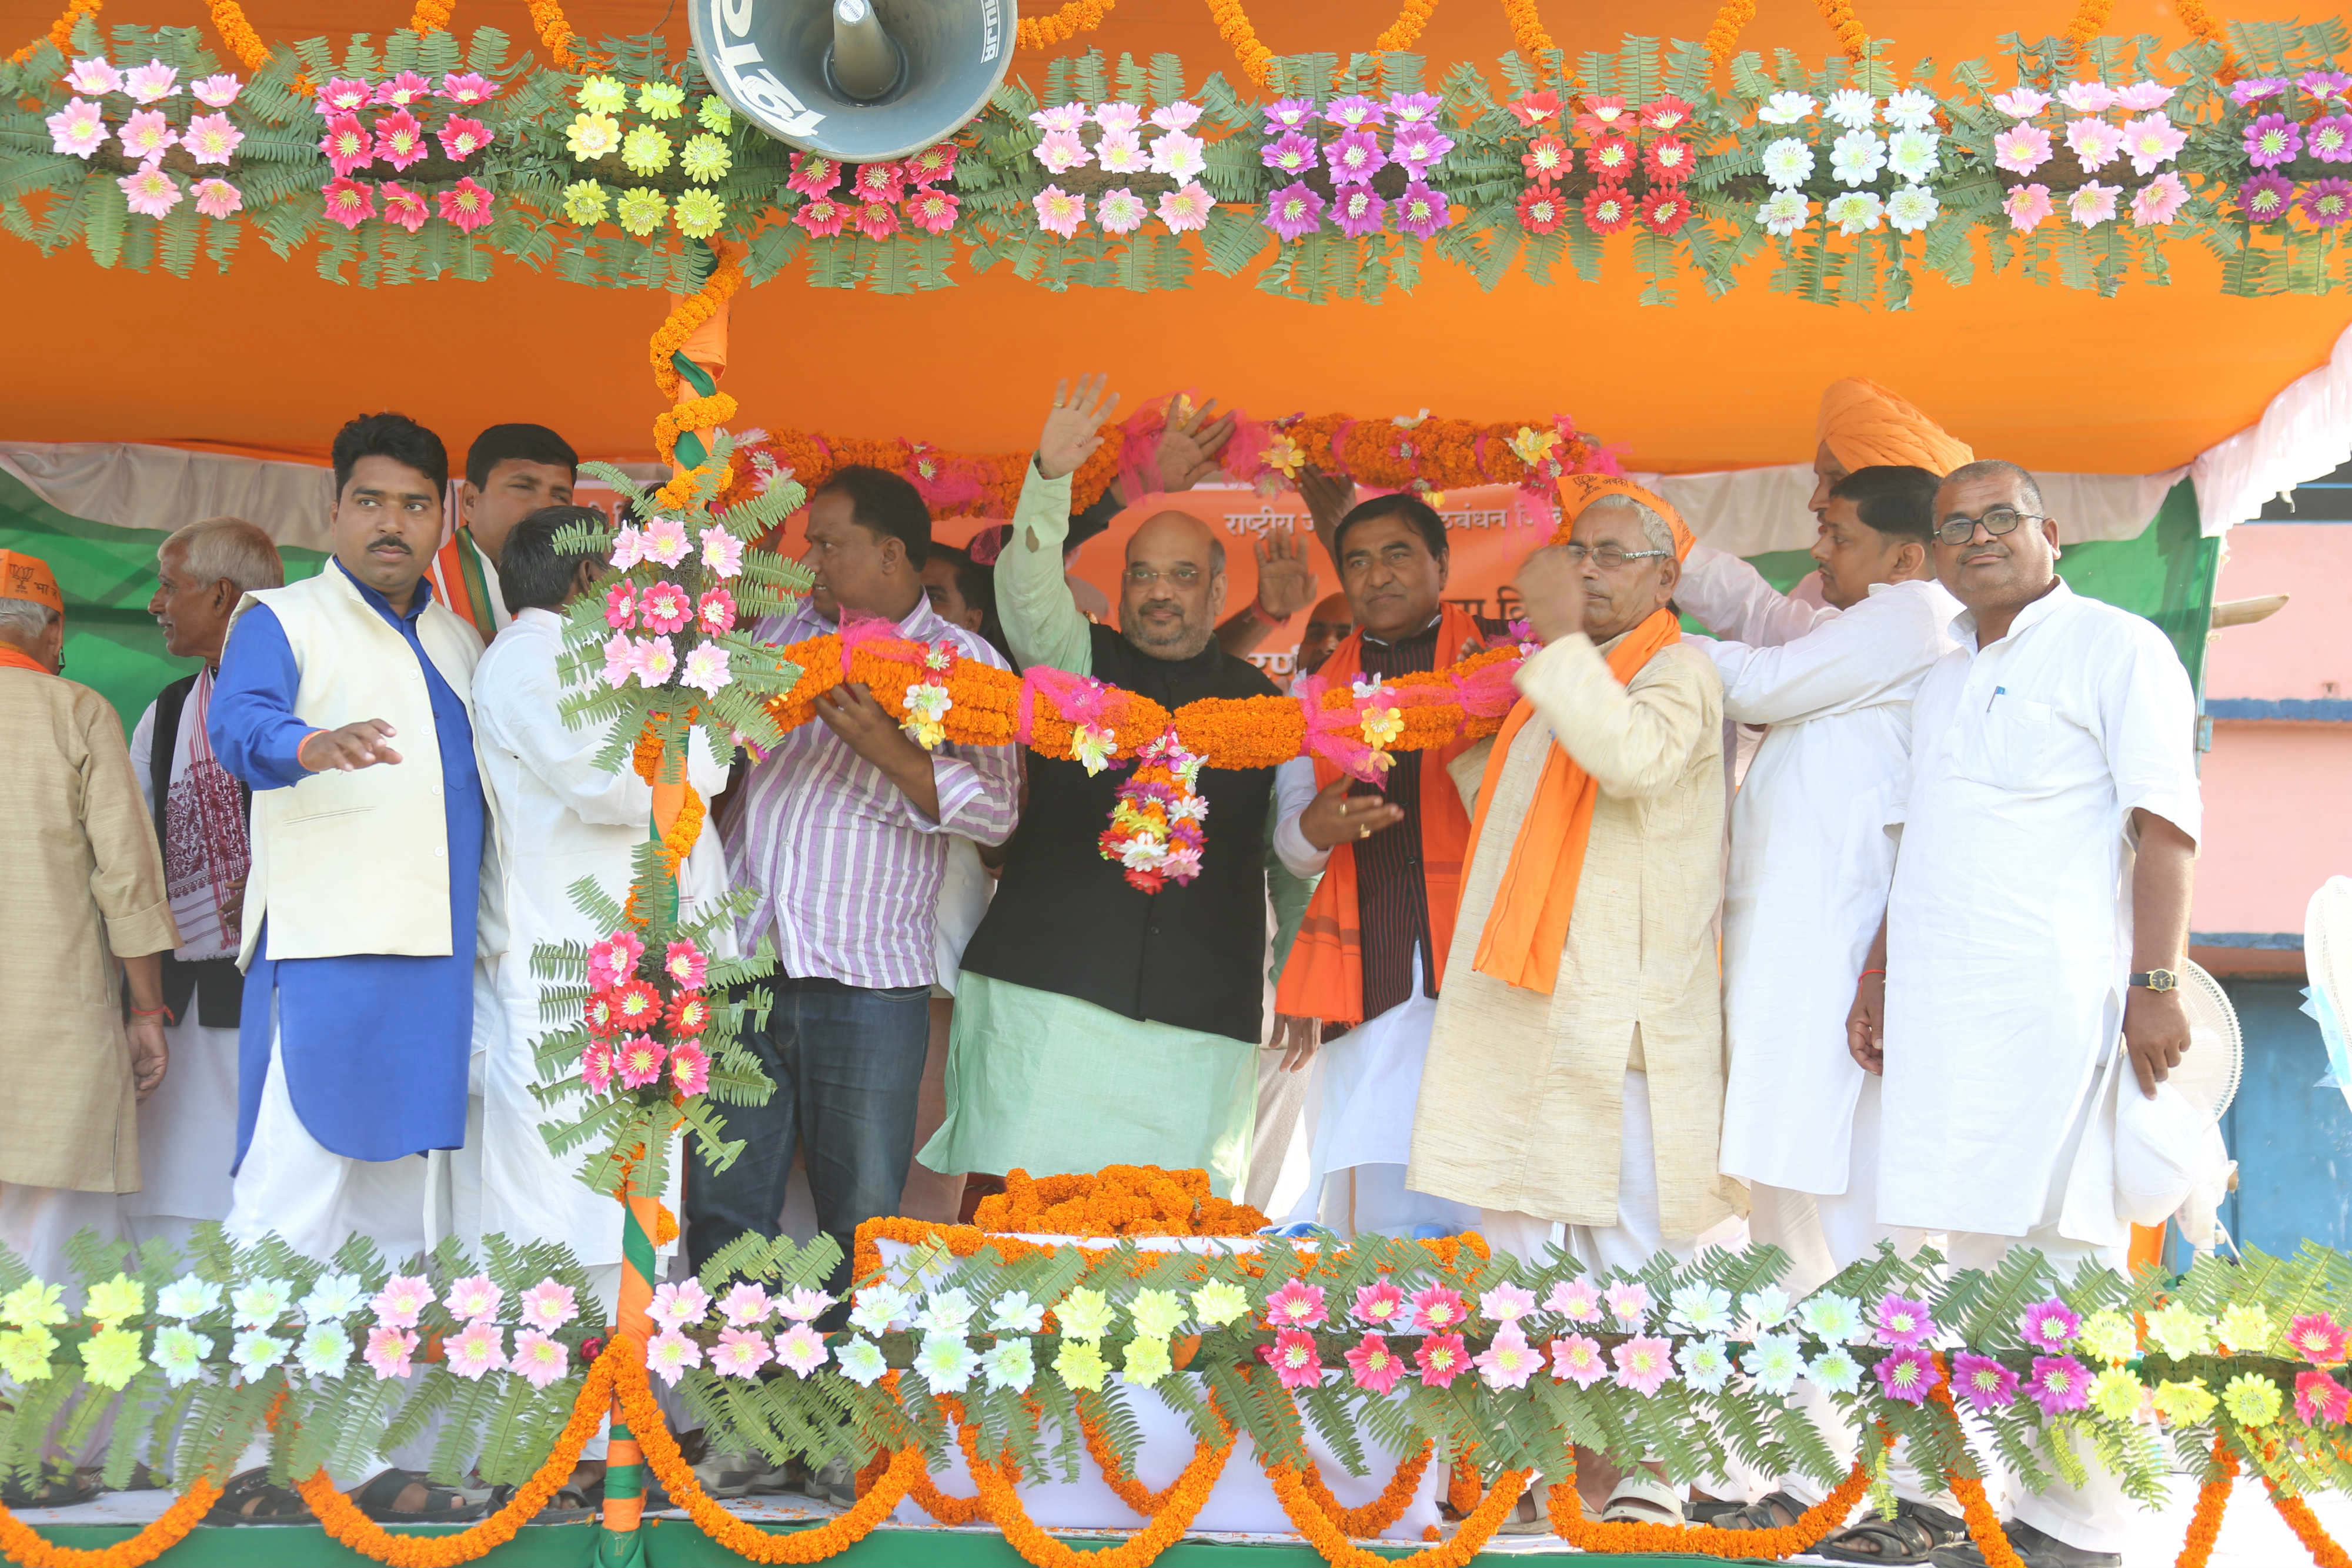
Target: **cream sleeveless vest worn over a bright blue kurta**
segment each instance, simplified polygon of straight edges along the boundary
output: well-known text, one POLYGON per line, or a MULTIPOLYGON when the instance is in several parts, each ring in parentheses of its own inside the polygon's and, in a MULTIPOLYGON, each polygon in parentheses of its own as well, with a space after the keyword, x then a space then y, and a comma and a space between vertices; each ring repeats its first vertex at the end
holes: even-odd
MULTIPOLYGON (((245 595, 238 616, 252 604, 270 607, 294 649, 294 715, 313 729, 383 719, 400 762, 254 790, 238 964, 252 964, 263 912, 273 959, 447 954, 449 825, 433 698, 416 654, 334 562, 301 583, 245 595)), ((416 618, 416 639, 470 717, 482 656, 473 630, 433 599, 416 618)))

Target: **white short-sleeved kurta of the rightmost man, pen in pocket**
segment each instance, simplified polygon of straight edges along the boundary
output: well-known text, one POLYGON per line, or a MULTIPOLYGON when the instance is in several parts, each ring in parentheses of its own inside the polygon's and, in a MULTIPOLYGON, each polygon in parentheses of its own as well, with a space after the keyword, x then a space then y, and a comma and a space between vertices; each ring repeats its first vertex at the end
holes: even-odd
POLYGON ((2112 1093, 2131 971, 2131 811, 2201 832, 2197 703, 2150 621, 2058 583, 2009 635, 1976 621, 1919 686, 1889 898, 1879 1218, 2114 1244, 2112 1093))

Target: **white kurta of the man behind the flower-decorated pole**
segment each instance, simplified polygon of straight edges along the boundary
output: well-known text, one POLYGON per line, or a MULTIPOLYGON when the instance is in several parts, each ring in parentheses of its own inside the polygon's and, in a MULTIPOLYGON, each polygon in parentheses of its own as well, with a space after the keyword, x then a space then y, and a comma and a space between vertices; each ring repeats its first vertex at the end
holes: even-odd
MULTIPOLYGON (((604 771, 595 755, 602 729, 567 729, 557 715, 562 679, 562 621, 524 609, 499 632, 473 672, 473 722, 482 759, 482 790, 508 846, 503 863, 506 947, 489 954, 496 1025, 482 1037, 482 1234, 560 1241, 583 1265, 621 1260, 621 1211, 581 1185, 579 1157, 548 1152, 539 1124, 564 1107, 541 1110, 532 1098, 539 1070, 532 1041, 548 1032, 539 1016, 532 950, 539 943, 593 943, 593 929, 564 889, 595 877, 614 898, 626 896, 630 856, 647 837, 654 788, 633 769, 604 771)), ((687 757, 687 780, 706 797, 727 783, 727 764, 710 755, 701 731, 687 757)), ((727 863, 715 832, 703 832, 682 875, 684 914, 724 896, 727 863)), ((713 943, 734 950, 731 931, 713 943)))

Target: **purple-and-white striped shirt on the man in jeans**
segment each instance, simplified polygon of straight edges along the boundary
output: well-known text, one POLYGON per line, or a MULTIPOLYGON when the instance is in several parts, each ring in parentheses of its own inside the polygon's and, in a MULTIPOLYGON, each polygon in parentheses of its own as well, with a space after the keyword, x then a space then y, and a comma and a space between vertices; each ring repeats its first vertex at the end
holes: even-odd
MULTIPOLYGON (((802 602, 793 616, 762 621, 757 637, 788 644, 833 630, 802 602)), ((1004 668, 978 632, 943 621, 929 599, 915 602, 898 635, 1004 668)), ((821 719, 788 731, 736 783, 727 820, 734 882, 760 896, 743 914, 743 950, 774 936, 781 973, 795 980, 929 985, 948 837, 1011 837, 1021 762, 1009 745, 948 743, 931 752, 931 778, 936 823, 821 719)))

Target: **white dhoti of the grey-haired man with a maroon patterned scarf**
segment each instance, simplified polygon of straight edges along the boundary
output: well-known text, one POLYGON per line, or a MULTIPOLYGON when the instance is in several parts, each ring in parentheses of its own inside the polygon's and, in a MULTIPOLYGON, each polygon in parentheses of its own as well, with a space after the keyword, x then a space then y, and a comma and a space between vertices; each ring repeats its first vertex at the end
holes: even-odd
POLYGON ((165 1030, 172 1067, 139 1105, 141 1190, 122 1194, 127 1241, 188 1251, 205 1220, 228 1218, 228 1166, 238 1159, 238 1030, 186 1018, 165 1030))

